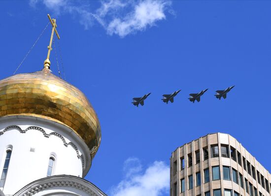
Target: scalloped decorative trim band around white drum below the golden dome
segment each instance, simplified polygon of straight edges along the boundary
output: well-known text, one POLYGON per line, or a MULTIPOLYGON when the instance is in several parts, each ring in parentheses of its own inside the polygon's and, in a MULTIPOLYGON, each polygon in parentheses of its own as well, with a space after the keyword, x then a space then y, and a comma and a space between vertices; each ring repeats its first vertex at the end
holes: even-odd
POLYGON ((0 131, 0 136, 2 134, 4 134, 4 132, 10 131, 10 130, 14 130, 14 129, 20 131, 20 133, 26 133, 26 131, 29 131, 29 130, 37 130, 37 131, 42 132, 43 136, 47 137, 47 138, 49 138, 51 135, 55 135, 55 136, 59 137, 63 141, 64 146, 68 147, 68 145, 70 145, 75 150, 75 152, 77 154, 77 158, 81 159, 83 170, 85 169, 85 159, 84 159, 84 156, 83 155, 80 156, 77 146, 74 143, 72 143, 72 142, 67 143, 66 140, 65 140, 65 138, 61 134, 59 134, 57 132, 51 132, 51 133, 47 134, 42 128, 37 127, 37 126, 30 126, 27 129, 22 130, 17 125, 11 125, 11 126, 6 127, 3 131, 0 131))

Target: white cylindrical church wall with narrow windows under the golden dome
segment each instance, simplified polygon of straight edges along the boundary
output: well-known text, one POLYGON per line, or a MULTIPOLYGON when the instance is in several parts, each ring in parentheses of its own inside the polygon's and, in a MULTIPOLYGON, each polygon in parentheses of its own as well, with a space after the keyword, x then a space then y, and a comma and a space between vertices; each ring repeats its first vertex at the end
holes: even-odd
POLYGON ((0 173, 3 170, 6 149, 12 149, 3 193, 13 195, 34 180, 46 177, 50 156, 55 158, 52 175, 82 177, 83 150, 69 134, 71 133, 54 124, 31 118, 0 121, 0 173), (18 127, 4 131, 13 125, 18 127), (30 128, 31 126, 34 127, 30 128), (38 128, 42 129, 36 130, 38 128))

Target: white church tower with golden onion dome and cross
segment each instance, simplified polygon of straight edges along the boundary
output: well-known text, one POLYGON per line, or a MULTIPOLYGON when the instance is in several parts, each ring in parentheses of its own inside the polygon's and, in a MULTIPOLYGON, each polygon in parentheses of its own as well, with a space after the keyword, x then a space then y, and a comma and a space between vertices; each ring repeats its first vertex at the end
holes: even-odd
POLYGON ((0 80, 0 196, 105 196, 83 179, 101 143, 98 117, 76 87, 50 71, 0 80))

